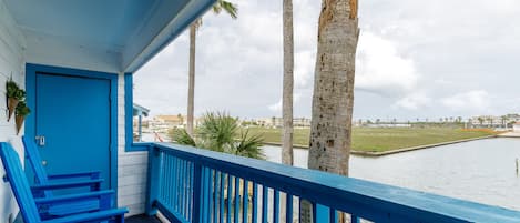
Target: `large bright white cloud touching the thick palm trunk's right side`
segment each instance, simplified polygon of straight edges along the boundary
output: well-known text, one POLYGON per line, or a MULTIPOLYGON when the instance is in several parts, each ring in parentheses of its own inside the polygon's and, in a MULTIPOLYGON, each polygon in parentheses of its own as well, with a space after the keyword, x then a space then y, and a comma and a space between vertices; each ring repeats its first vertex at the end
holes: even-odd
POLYGON ((411 91, 419 79, 414 61, 396 43, 369 31, 360 34, 356 69, 356 88, 385 94, 411 91))

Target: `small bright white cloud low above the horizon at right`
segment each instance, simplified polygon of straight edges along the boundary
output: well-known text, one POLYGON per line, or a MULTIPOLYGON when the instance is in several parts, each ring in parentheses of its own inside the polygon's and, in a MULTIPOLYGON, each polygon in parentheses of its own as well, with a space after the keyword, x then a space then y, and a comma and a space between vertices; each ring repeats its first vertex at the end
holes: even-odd
POLYGON ((473 90, 441 99, 440 103, 453 111, 483 112, 489 110, 490 95, 487 91, 473 90))

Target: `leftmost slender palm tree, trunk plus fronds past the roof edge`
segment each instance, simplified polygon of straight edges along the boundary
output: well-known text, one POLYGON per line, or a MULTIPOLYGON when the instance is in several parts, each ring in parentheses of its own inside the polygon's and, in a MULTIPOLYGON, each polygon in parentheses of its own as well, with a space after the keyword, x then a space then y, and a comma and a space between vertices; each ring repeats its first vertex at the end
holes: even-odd
MULTIPOLYGON (((225 11, 231 18, 236 19, 238 16, 238 8, 224 0, 217 0, 213 6, 213 12, 220 14, 225 11)), ((187 83, 187 123, 186 131, 190 135, 193 135, 193 112, 194 112, 194 99, 195 99, 195 40, 196 31, 202 24, 202 19, 195 20, 190 26, 190 71, 188 71, 188 83, 187 83)))

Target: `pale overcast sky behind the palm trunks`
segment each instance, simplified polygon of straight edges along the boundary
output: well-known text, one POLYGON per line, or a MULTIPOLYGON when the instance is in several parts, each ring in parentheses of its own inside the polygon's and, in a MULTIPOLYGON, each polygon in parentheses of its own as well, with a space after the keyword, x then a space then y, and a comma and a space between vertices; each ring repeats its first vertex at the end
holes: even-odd
MULTIPOLYGON (((195 115, 282 116, 281 0, 232 0, 196 39, 195 115)), ((310 118, 319 0, 293 0, 294 115, 310 118)), ((359 0, 354 119, 520 113, 520 1, 359 0)), ((186 113, 187 31, 134 74, 152 115, 186 113)))

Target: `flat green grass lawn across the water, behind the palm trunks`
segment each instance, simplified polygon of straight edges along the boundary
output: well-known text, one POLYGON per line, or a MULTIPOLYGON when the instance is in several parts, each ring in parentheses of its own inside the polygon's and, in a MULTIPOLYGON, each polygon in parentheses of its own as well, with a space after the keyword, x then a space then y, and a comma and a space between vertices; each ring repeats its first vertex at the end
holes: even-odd
MULTIPOLYGON (((251 133, 259 133, 265 142, 279 143, 281 129, 249 128, 251 133)), ((308 145, 309 129, 295 129, 294 144, 308 145)), ((353 149, 365 152, 384 152, 456 140, 493 135, 491 131, 463 131, 449 128, 354 128, 353 149)))

